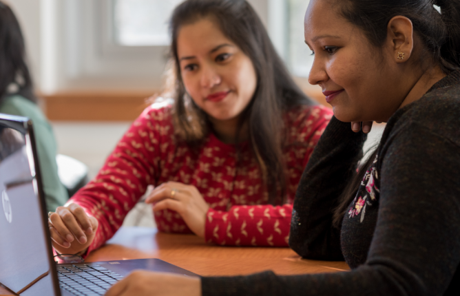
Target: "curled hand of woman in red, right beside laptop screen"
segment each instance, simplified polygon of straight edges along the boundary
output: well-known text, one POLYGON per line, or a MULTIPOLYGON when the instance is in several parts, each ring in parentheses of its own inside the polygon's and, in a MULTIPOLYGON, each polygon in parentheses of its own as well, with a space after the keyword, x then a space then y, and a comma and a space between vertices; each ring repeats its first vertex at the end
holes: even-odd
POLYGON ((85 251, 94 239, 98 221, 88 216, 78 204, 57 207, 48 220, 52 246, 60 254, 85 251))

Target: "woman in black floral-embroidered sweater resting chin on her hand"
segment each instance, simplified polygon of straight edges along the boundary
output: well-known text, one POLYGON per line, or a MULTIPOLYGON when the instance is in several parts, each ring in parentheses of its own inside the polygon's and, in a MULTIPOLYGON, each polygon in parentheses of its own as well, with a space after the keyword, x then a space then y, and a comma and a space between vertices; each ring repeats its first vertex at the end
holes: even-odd
POLYGON ((352 270, 136 272, 107 295, 460 295, 460 1, 311 0, 305 41, 335 117, 297 189, 289 244, 352 270), (372 121, 386 129, 355 173, 372 121))

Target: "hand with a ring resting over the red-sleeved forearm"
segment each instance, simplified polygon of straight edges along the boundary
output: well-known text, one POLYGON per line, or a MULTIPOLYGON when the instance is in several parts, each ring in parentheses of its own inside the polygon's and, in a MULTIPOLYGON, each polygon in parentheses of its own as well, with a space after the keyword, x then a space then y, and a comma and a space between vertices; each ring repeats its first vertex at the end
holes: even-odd
POLYGON ((205 237, 206 213, 209 205, 193 185, 167 182, 151 191, 147 204, 156 203, 154 211, 170 209, 179 213, 191 231, 205 237))

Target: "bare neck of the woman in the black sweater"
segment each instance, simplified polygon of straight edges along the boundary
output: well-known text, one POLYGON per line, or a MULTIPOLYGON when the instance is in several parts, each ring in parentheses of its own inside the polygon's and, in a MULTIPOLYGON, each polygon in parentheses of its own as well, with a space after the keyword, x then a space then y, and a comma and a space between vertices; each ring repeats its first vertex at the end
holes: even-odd
POLYGON ((428 92, 435 83, 444 77, 446 77, 446 74, 444 74, 440 67, 432 67, 430 70, 422 73, 419 80, 415 83, 412 89, 410 89, 410 92, 406 98, 404 98, 404 101, 402 101, 398 109, 419 100, 419 98, 424 96, 424 94, 426 94, 426 92, 428 92))

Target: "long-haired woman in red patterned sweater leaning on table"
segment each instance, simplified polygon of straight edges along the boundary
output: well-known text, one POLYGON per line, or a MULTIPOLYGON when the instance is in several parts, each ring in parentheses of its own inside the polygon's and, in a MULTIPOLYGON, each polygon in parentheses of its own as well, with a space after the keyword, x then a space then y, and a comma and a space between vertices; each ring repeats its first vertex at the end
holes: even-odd
POLYGON ((54 249, 87 255, 145 193, 159 231, 287 246, 302 171, 331 111, 295 85, 246 1, 185 1, 171 19, 174 91, 133 123, 56 213, 54 249))

